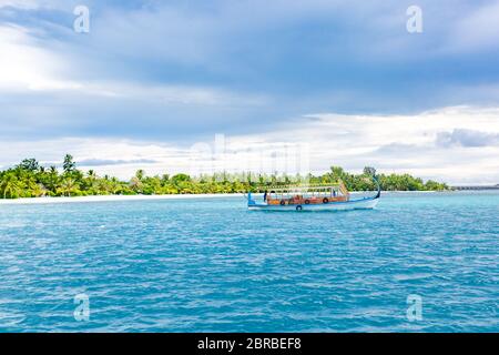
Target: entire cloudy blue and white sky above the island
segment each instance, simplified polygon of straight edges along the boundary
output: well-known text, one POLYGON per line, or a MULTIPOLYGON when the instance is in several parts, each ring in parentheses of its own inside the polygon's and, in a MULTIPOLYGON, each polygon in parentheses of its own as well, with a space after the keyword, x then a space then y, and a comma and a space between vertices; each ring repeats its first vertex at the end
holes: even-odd
POLYGON ((0 0, 0 166, 499 183, 498 38, 499 1, 0 0))

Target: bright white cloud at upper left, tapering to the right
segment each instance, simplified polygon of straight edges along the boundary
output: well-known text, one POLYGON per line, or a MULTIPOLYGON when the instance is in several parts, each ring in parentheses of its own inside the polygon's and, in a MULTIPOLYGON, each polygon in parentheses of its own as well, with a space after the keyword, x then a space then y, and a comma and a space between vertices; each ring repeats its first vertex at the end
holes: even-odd
POLYGON ((68 73, 75 68, 63 57, 37 45, 29 31, 17 26, 0 26, 0 92, 60 92, 204 105, 259 105, 267 100, 263 95, 243 95, 203 85, 69 78, 68 73))

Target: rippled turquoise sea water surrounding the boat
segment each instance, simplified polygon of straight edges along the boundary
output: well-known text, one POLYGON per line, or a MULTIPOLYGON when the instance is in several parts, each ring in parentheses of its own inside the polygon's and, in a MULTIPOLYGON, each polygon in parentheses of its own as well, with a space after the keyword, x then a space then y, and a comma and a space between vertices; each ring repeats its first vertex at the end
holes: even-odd
POLYGON ((498 303, 495 192, 0 205, 0 332, 498 332, 498 303))

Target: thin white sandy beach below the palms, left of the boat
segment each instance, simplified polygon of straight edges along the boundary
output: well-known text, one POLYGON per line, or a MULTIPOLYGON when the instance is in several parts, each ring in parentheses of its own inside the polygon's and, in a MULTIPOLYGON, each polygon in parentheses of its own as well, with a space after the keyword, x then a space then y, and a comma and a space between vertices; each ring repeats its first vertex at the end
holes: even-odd
POLYGON ((171 195, 99 195, 74 197, 30 197, 16 200, 0 200, 2 204, 51 204, 75 202, 121 202, 121 201, 151 201, 151 200, 189 200, 189 199, 222 199, 244 197, 242 193, 206 193, 206 194, 171 194, 171 195))

